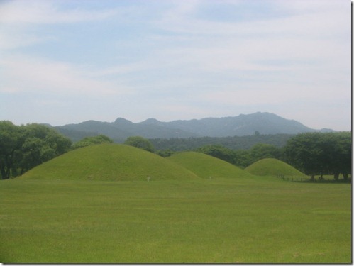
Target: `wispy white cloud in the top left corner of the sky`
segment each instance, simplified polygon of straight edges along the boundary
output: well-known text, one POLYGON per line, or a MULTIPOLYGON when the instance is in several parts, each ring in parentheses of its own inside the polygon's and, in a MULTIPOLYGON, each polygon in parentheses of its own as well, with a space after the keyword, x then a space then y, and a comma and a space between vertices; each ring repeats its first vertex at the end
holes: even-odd
POLYGON ((41 25, 60 23, 80 23, 102 21, 118 15, 116 9, 62 10, 65 1, 52 0, 13 0, 0 3, 0 51, 23 48, 29 45, 53 40, 52 35, 38 31, 41 25))

